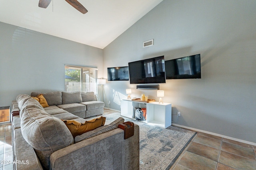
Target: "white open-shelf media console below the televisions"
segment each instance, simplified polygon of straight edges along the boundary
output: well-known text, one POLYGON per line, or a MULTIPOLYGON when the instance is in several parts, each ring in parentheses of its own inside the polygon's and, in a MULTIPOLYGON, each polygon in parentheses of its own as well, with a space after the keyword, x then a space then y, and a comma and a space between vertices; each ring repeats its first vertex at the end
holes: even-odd
POLYGON ((146 121, 148 124, 167 128, 172 125, 172 104, 158 102, 138 102, 129 99, 121 100, 121 116, 135 119, 135 107, 146 107, 146 121))

